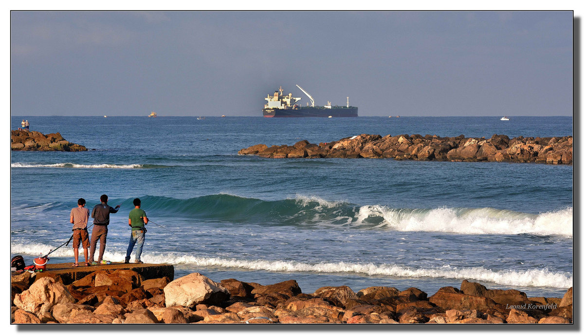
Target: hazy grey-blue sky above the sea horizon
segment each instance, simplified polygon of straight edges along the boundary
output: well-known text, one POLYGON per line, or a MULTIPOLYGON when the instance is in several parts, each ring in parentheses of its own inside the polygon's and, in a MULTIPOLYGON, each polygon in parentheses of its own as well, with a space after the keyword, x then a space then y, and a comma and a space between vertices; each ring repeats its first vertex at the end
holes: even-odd
POLYGON ((12 12, 12 115, 572 115, 572 12, 12 12))

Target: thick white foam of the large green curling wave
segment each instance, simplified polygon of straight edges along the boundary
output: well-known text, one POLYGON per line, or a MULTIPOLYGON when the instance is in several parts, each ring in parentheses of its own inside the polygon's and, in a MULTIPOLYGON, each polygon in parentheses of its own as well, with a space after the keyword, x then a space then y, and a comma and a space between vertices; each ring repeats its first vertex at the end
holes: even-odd
POLYGON ((352 225, 364 225, 369 216, 381 216, 377 228, 401 232, 447 232, 457 234, 535 234, 573 236, 573 210, 532 215, 528 213, 479 209, 392 209, 385 206, 361 206, 352 225))

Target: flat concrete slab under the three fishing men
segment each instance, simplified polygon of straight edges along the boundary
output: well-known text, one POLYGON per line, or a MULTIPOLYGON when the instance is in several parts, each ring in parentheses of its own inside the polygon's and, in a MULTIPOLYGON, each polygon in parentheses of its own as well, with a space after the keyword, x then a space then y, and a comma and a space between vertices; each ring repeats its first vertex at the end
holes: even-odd
MULTIPOLYGON (((173 281, 175 277, 175 267, 172 264, 124 264, 124 263, 112 263, 110 265, 99 264, 86 267, 79 264, 79 267, 72 267, 72 263, 57 263, 51 264, 50 261, 47 264, 47 269, 43 272, 36 272, 36 279, 43 277, 58 277, 61 278, 64 285, 69 285, 72 282, 85 277, 91 272, 99 270, 118 270, 126 269, 138 272, 142 276, 142 279, 154 279, 166 277, 169 281, 173 281)), ((35 280, 36 280, 35 279, 35 280)))

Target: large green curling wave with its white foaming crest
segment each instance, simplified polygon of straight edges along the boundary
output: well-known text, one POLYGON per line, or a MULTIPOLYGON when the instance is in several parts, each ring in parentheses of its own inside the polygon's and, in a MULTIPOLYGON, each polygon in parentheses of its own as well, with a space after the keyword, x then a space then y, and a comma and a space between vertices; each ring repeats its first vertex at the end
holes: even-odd
MULTIPOLYGON (((293 199, 265 201, 230 194, 190 199, 140 196, 148 213, 200 221, 267 226, 341 227, 343 229, 397 230, 400 232, 442 232, 453 234, 532 234, 573 236, 571 207, 539 214, 495 208, 391 208, 382 205, 353 205, 298 195, 293 199)), ((111 199, 132 208, 133 198, 111 199)), ((41 204, 38 204, 39 206, 41 204)), ((27 205, 32 206, 32 205, 27 205)), ((13 204, 13 208, 21 208, 13 204)), ((91 207, 91 206, 89 206, 91 207)), ((63 203, 44 207, 69 210, 63 203)))

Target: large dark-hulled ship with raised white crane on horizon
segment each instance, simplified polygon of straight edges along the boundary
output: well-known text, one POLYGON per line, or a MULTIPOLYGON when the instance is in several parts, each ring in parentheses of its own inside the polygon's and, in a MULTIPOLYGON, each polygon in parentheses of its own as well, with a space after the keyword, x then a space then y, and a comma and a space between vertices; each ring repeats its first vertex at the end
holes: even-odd
POLYGON ((264 98, 267 101, 262 109, 264 118, 356 118, 359 116, 357 107, 349 106, 348 96, 346 106, 331 106, 330 101, 326 106, 315 106, 312 96, 300 86, 296 86, 308 96, 312 105, 307 103, 306 106, 301 106, 298 103, 301 98, 293 98, 291 93, 284 95, 284 90, 280 86, 280 89, 274 91, 273 96, 268 94, 267 98, 264 98))

